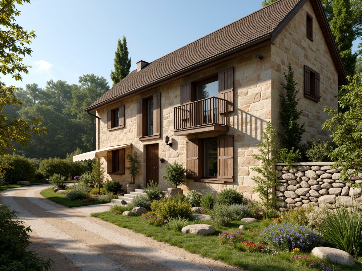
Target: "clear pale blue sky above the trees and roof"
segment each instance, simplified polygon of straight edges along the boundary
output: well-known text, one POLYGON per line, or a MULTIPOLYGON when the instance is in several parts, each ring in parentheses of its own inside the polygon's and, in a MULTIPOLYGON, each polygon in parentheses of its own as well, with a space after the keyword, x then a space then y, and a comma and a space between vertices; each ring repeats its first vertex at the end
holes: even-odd
MULTIPOLYGON (((46 81, 77 84, 83 74, 107 79, 117 41, 123 35, 132 61, 151 62, 261 8, 261 0, 35 0, 19 7, 17 23, 34 30, 31 65, 22 82, 1 76, 7 85, 25 88, 46 81)), ((357 50, 359 41, 354 42, 357 50)))

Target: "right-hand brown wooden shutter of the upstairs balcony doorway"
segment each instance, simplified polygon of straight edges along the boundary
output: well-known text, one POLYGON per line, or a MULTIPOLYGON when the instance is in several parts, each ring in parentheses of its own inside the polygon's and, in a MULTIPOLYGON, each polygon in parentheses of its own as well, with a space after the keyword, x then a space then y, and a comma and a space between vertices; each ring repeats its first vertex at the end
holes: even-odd
POLYGON ((219 98, 228 101, 228 112, 234 110, 234 67, 219 72, 219 98))

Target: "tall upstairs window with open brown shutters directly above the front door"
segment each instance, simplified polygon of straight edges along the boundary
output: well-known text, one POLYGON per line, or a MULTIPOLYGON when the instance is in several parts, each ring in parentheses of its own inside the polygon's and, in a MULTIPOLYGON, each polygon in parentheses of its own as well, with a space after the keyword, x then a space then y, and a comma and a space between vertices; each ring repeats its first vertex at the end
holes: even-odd
POLYGON ((160 93, 137 101, 137 138, 160 137, 160 93))

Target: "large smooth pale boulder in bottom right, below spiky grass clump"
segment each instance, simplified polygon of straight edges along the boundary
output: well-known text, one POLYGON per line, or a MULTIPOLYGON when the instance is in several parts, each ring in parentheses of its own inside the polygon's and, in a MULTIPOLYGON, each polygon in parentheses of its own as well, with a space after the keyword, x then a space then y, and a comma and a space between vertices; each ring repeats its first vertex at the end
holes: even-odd
POLYGON ((340 264, 354 265, 356 262, 351 254, 340 249, 333 249, 332 247, 318 246, 315 247, 311 254, 322 260, 329 259, 332 262, 340 264))

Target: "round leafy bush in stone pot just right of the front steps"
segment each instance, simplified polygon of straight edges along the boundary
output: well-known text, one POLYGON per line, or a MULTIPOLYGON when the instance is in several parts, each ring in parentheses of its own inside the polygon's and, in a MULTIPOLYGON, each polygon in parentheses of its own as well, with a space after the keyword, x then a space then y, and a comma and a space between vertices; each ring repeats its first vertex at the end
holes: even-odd
POLYGON ((166 184, 172 186, 172 188, 167 188, 169 196, 181 193, 181 188, 178 188, 177 186, 185 184, 185 177, 186 169, 178 162, 175 161, 168 166, 165 166, 165 175, 163 175, 163 179, 166 181, 166 184))

